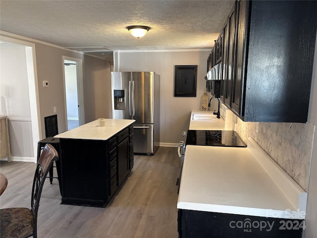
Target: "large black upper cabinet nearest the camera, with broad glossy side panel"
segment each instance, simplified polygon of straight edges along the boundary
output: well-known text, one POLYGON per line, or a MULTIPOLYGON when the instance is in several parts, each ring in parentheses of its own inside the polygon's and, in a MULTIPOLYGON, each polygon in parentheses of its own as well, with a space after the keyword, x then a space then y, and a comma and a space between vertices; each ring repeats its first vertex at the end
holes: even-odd
POLYGON ((317 1, 236 1, 222 31, 222 100, 244 121, 306 122, 317 1))

